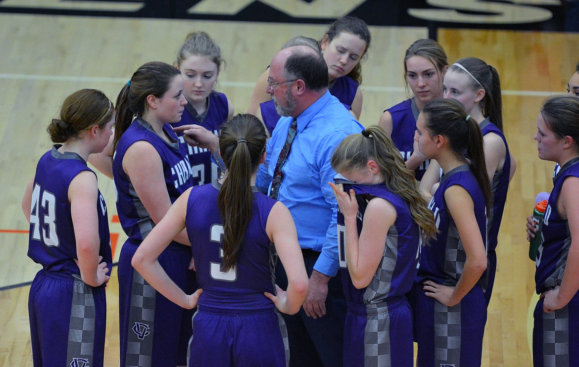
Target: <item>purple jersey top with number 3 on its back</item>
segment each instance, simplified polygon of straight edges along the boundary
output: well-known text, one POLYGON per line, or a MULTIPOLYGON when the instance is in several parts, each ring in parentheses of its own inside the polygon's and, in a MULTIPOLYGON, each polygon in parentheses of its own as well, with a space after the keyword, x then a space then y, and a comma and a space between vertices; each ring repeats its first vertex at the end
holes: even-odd
POLYGON ((203 288, 199 305, 229 310, 273 309, 273 302, 263 292, 275 293, 277 255, 265 226, 276 200, 254 190, 252 216, 236 266, 222 271, 223 222, 217 208, 218 193, 219 189, 213 185, 195 186, 187 204, 186 229, 195 259, 197 283, 203 288))

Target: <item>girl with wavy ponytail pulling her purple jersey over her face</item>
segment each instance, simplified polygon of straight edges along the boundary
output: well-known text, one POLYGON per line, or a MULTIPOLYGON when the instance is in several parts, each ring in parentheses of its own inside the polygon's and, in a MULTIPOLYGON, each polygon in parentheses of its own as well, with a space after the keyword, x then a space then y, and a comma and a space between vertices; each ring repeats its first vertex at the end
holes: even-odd
POLYGON ((412 366, 412 314, 405 293, 416 276, 420 244, 435 236, 434 216, 378 126, 346 137, 332 156, 332 167, 342 175, 330 185, 340 208, 338 253, 349 301, 345 365, 388 360, 393 366, 412 366), (371 325, 385 337, 378 337, 371 325))

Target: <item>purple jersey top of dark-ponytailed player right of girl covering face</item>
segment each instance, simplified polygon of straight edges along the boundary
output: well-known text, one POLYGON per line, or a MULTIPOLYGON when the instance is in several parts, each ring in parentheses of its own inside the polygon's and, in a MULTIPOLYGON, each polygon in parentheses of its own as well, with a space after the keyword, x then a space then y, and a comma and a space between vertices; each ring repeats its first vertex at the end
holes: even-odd
MULTIPOLYGON (((467 190, 474 203, 474 214, 477 218, 478 229, 481 232, 483 243, 486 246, 486 205, 481 187, 466 164, 451 170, 442 176, 440 185, 428 204, 434 213, 438 233, 430 245, 423 247, 420 252, 420 265, 417 282, 434 280, 438 284, 454 287, 463 273, 466 252, 456 228, 455 221, 450 216, 444 193, 450 186, 459 185, 467 190)), ((479 281, 485 289, 485 275, 479 281)))

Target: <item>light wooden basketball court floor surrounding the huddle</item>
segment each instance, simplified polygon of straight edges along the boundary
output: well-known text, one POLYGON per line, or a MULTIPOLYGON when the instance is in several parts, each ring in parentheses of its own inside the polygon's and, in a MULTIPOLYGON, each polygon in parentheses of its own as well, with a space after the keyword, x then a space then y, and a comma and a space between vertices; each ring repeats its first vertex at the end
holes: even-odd
MULTIPOLYGON (((192 30, 207 31, 227 61, 217 89, 236 112, 247 111, 255 80, 283 43, 295 35, 320 38, 324 25, 0 14, 0 365, 31 366, 27 299, 38 270, 26 256, 28 225, 20 200, 38 158, 50 147, 46 126, 72 91, 101 89, 111 100, 141 64, 172 63, 192 30)), ((371 27, 373 43, 363 61, 361 122, 378 123, 385 108, 406 97, 402 57, 426 28, 371 27)), ((527 258, 525 218, 537 192, 551 190, 552 163, 537 158, 533 134, 541 102, 563 92, 577 62, 579 35, 440 30, 449 61, 477 56, 499 70, 504 121, 517 173, 511 182, 499 236, 499 267, 489 306, 483 366, 529 366, 529 307, 534 263, 527 258)), ((113 185, 99 177, 109 216, 116 214, 113 185)), ((120 225, 111 232, 124 241, 120 225)), ((119 252, 119 248, 116 252, 119 252)), ((118 284, 107 287, 106 365, 117 366, 118 284)))

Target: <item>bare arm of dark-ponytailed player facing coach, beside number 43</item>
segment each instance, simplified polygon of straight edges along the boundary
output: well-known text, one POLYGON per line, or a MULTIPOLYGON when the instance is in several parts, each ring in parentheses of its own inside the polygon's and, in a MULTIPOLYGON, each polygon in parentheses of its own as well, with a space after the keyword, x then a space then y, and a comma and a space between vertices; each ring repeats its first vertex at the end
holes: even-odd
MULTIPOLYGON (((159 153, 149 142, 137 141, 124 154, 123 170, 129 175, 151 219, 158 224, 171 207, 159 153)), ((185 230, 175 236, 174 240, 190 245, 185 230)))

